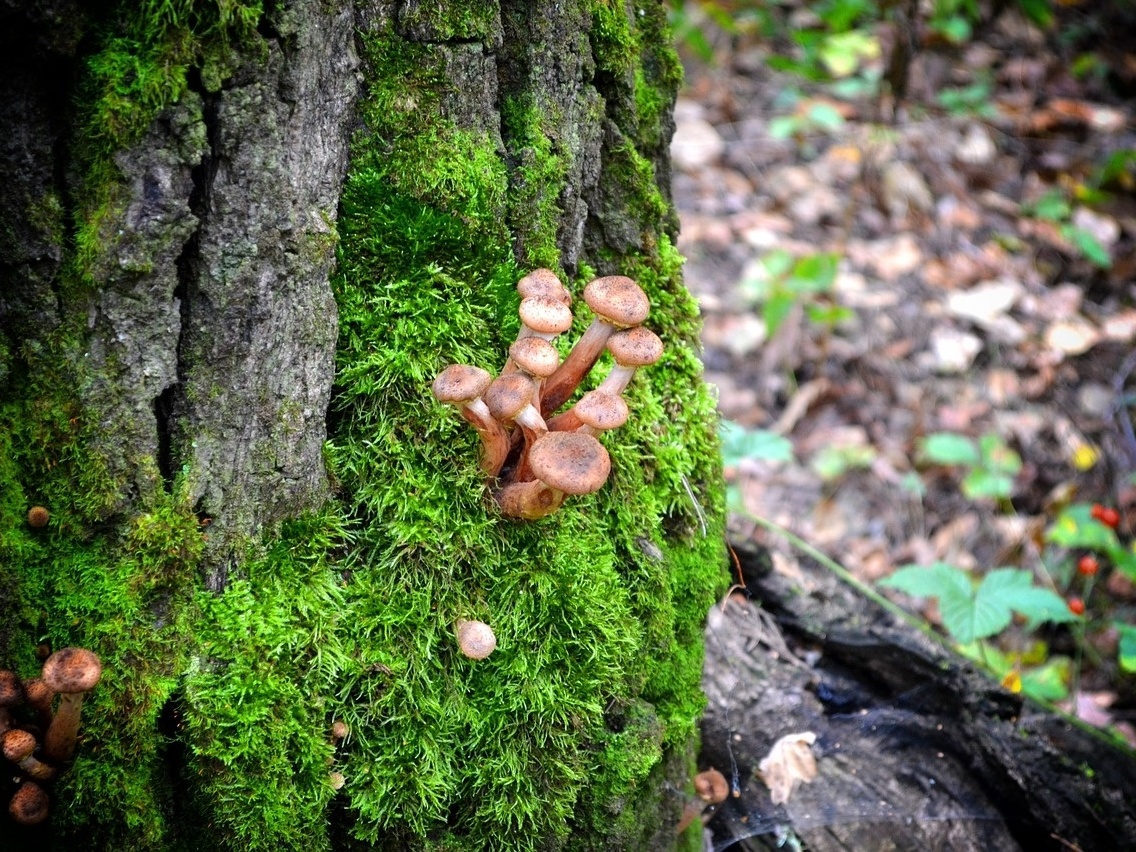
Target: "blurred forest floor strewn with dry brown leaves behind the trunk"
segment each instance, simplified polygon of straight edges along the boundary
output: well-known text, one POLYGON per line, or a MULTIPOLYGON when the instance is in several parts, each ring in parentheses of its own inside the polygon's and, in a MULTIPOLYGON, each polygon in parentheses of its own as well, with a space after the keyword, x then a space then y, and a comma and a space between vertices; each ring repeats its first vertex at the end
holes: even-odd
MULTIPOLYGON (((983 653, 1131 738, 1136 62, 1104 43, 1078 76, 1075 44, 1006 12, 918 52, 893 110, 855 85, 886 24, 882 58, 836 84, 705 26, 674 193, 732 536, 771 544, 757 516, 871 585, 1028 570, 1084 615, 1019 616, 983 653), (1091 504, 1117 511, 1111 544, 1062 537, 1101 532, 1091 504)), ((942 624, 934 596, 892 595, 942 624)))

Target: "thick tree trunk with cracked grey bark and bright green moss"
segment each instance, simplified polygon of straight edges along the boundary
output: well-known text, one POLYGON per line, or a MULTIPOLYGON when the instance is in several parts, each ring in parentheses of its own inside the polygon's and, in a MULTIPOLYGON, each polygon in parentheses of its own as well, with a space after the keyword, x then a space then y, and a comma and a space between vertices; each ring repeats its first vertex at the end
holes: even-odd
POLYGON ((679 843, 722 508, 662 6, 39 0, 0 41, 0 667, 106 665, 24 840, 679 843), (428 387, 500 368, 537 266, 635 277, 667 351, 604 490, 517 523, 428 387))

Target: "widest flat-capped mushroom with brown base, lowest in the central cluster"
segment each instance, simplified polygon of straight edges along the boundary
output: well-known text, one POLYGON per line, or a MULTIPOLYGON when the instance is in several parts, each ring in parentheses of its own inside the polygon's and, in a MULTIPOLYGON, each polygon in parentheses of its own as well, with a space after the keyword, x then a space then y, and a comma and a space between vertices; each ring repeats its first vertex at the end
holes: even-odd
POLYGON ((549 432, 528 453, 531 482, 516 482, 494 496, 501 513, 534 520, 551 515, 566 494, 591 494, 608 481, 611 459, 603 444, 579 432, 549 432))

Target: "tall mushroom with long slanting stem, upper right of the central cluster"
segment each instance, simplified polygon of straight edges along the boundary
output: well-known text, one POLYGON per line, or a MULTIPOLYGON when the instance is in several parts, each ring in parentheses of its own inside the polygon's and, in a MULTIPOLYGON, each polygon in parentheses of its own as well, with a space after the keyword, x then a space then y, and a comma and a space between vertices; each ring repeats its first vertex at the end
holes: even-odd
POLYGON ((573 395, 603 354, 603 346, 612 333, 640 325, 651 308, 642 287, 624 275, 609 275, 590 282, 584 287, 584 301, 595 314, 595 319, 576 341, 559 369, 544 383, 541 412, 545 417, 573 395))

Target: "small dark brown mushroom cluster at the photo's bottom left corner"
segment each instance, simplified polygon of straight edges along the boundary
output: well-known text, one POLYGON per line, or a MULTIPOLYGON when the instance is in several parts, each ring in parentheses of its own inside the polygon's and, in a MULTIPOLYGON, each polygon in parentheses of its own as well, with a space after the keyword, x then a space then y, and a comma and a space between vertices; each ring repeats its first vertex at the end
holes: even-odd
POLYGON ((27 680, 0 669, 0 747, 19 784, 8 803, 15 822, 34 826, 48 818, 47 787, 75 753, 83 695, 100 677, 102 663, 83 648, 56 651, 40 677, 27 680))

